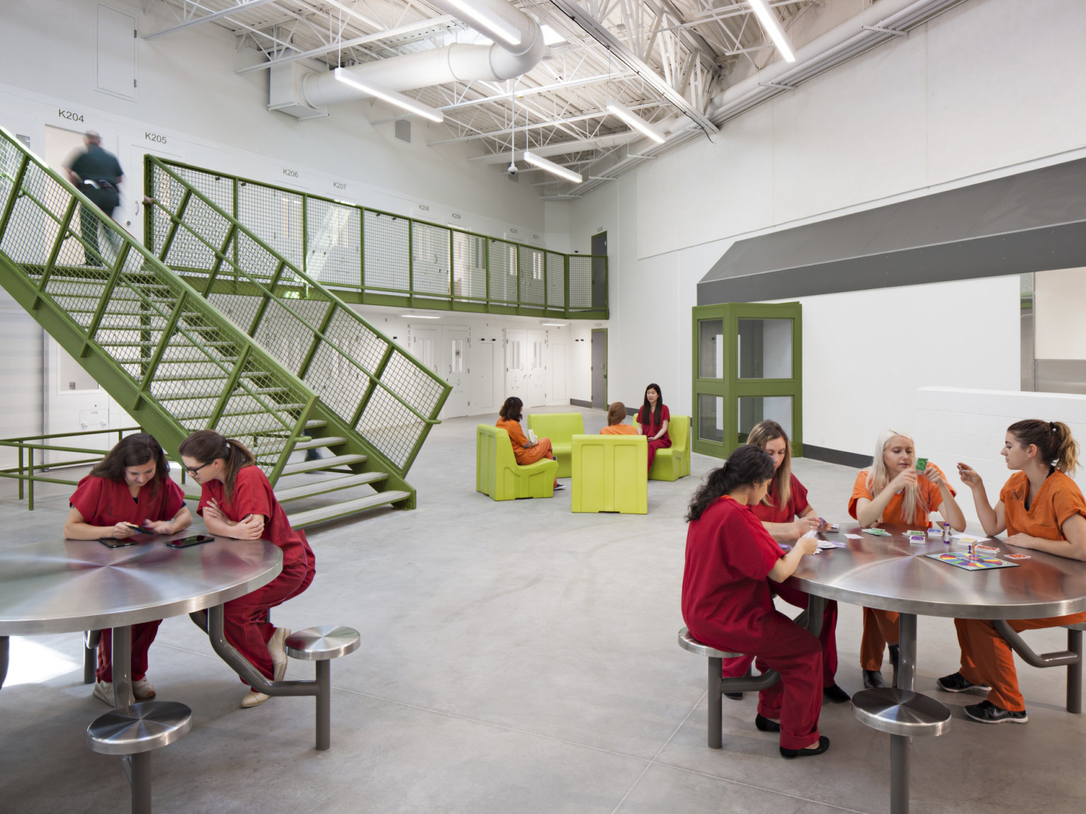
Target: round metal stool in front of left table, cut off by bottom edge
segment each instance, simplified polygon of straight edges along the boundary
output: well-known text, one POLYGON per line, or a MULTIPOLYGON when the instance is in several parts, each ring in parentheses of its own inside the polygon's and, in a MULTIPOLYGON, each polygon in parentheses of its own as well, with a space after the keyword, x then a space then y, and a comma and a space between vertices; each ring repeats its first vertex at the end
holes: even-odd
POLYGON ((132 814, 151 814, 151 752, 192 728, 192 710, 177 701, 142 701, 97 717, 87 746, 101 754, 123 754, 132 790, 132 814))

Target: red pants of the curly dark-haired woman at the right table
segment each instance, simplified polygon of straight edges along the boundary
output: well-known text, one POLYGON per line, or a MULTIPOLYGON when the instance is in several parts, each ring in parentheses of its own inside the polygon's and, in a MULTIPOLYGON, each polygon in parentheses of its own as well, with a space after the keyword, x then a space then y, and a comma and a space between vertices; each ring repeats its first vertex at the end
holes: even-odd
MULTIPOLYGON (((689 622, 687 622, 689 625, 689 622)), ((691 627, 710 647, 750 653, 759 672, 775 670, 781 681, 758 694, 758 713, 781 720, 781 746, 806 749, 818 742, 822 711, 822 645, 780 611, 760 616, 749 628, 691 627), (704 637, 704 638, 703 638, 704 637)))

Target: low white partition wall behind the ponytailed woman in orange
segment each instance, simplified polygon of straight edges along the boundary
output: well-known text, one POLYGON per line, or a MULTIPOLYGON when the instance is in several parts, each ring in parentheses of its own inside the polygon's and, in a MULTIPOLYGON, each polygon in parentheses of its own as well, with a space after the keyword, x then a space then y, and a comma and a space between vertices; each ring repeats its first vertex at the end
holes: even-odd
MULTIPOLYGON (((1071 434, 1086 442, 1086 396, 1070 393, 1016 393, 964 387, 922 387, 915 393, 917 455, 931 458, 950 476, 965 519, 978 522, 970 489, 958 480, 957 465, 968 463, 980 473, 988 503, 1011 476, 999 455, 1007 428, 1015 421, 1038 418, 1063 421, 1071 434)), ((1086 471, 1075 482, 1086 488, 1086 471)))

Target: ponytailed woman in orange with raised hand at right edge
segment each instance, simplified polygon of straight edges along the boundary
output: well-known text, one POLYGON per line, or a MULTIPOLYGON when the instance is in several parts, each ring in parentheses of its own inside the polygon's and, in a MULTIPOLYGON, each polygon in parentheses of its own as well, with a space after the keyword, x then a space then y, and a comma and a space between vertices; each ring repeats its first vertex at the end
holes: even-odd
MULTIPOLYGON (((1018 421, 1007 428, 1001 455, 1007 468, 1016 471, 1003 485, 995 507, 988 505, 984 481, 976 470, 958 465, 961 482, 973 492, 984 533, 992 536, 1006 531, 1009 546, 1086 561, 1086 500, 1071 480, 1078 465, 1078 444, 1071 429, 1060 421, 1018 421)), ((1015 631, 1030 631, 1083 622, 1086 613, 1008 623, 1015 631)), ((956 619, 955 627, 961 646, 961 667, 939 678, 939 688, 948 692, 987 692, 987 699, 964 708, 967 715, 982 724, 1028 721, 1014 657, 992 622, 956 619)))

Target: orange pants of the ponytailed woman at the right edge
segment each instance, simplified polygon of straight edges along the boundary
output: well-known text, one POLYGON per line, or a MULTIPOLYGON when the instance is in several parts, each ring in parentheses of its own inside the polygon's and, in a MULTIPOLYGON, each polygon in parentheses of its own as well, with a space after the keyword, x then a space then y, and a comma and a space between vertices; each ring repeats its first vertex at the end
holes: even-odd
MULTIPOLYGON (((1086 613, 1050 619, 1014 619, 1008 624, 1015 632, 1035 631, 1038 627, 1060 627, 1086 622, 1086 613)), ((965 681, 987 684, 992 687, 988 700, 1012 712, 1025 709, 1025 699, 1018 687, 1014 670, 1014 653, 1011 646, 996 631, 992 622, 984 619, 956 619, 958 644, 961 646, 961 669, 965 681)))

